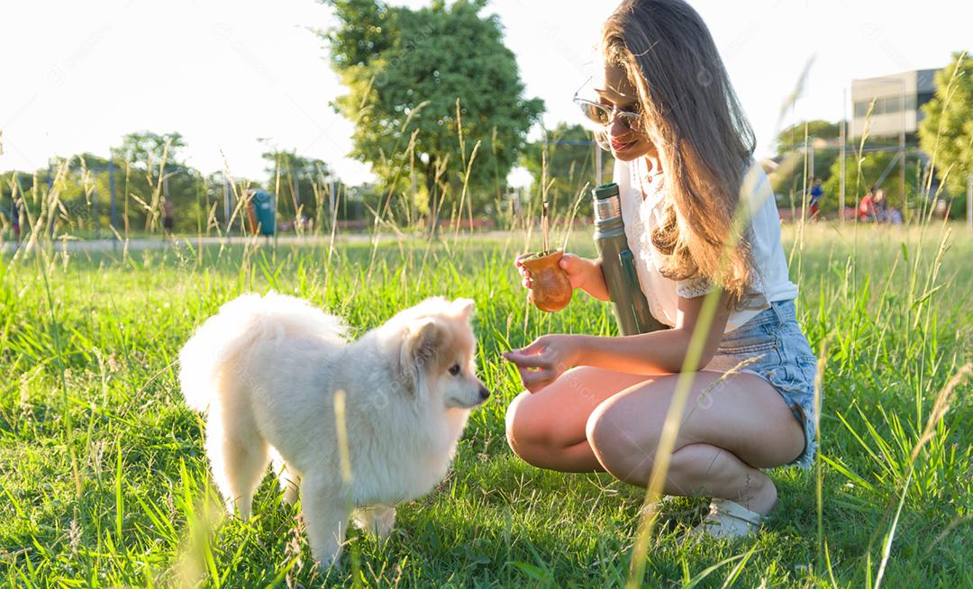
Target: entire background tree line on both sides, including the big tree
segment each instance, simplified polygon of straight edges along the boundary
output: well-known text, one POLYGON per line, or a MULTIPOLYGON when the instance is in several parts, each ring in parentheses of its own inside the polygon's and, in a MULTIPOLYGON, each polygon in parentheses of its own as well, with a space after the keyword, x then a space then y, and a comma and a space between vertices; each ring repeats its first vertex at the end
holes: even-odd
MULTIPOLYGON (((597 148, 581 125, 560 123, 527 141, 543 103, 525 95, 498 17, 484 14, 486 0, 435 0, 417 10, 381 0, 321 1, 335 9, 338 24, 319 34, 347 89, 330 105, 354 123, 350 156, 370 164, 375 185, 345 187, 323 161, 279 149, 263 154, 264 178, 231 181, 222 172, 204 174, 187 165, 180 133, 140 131, 124 136, 108 157, 66 158, 71 170, 57 187, 65 223, 71 219, 77 231, 108 232, 109 166, 119 231, 158 230, 162 200, 172 203, 179 232, 222 229, 228 221, 225 186, 230 184, 234 201, 250 189, 275 194, 278 219, 284 221, 300 216, 323 226, 335 202, 339 220, 378 215, 398 225, 435 227, 457 217, 500 219, 507 214, 515 204, 507 185, 515 165, 533 178, 530 191, 516 198, 518 205, 539 198, 545 160, 548 197, 561 212, 597 181, 597 148)), ((934 190, 942 186, 958 202, 973 172, 973 65, 965 54, 956 54, 938 73, 935 96, 923 111, 919 132, 908 137, 906 196, 911 203, 924 197, 927 164, 934 163, 934 190), (934 162, 919 156, 919 149, 935 154, 934 162)), ((776 159, 789 165, 771 175, 779 205, 800 206, 811 178, 818 178, 825 191, 821 210, 837 209, 838 140, 839 124, 832 121, 801 121, 780 132, 776 159), (805 160, 809 151, 812 161, 805 160)), ((889 173, 897 143, 868 138, 860 153, 859 147, 847 140, 847 206, 881 180, 889 204, 902 207, 901 175, 889 173)), ((602 179, 608 179, 612 158, 602 156, 602 179)), ((36 206, 38 195, 53 188, 58 166, 53 160, 49 168, 33 173, 0 175, 0 212, 6 214, 0 215, 0 224, 10 225, 15 192, 28 207, 36 206)), ((964 207, 952 210, 961 215, 964 207)), ((590 205, 584 203, 579 214, 590 215, 590 205)))

